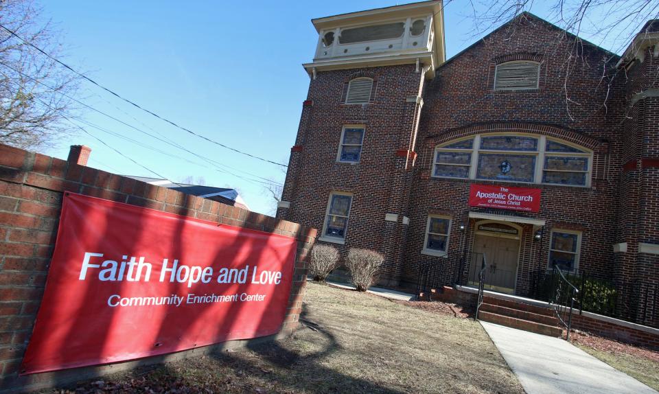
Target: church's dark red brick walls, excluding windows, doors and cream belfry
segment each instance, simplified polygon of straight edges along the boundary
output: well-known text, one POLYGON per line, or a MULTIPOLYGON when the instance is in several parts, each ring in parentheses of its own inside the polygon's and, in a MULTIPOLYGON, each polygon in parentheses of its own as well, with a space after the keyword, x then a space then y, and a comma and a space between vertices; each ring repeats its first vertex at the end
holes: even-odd
POLYGON ((646 251, 659 244, 659 98, 651 94, 658 58, 654 46, 645 52, 643 62, 618 65, 620 56, 522 14, 438 67, 429 81, 415 65, 319 71, 290 157, 282 198, 290 207, 277 217, 320 231, 329 194, 351 193, 345 244, 336 246, 344 255, 352 246, 384 253, 380 282, 389 286, 415 286, 424 263, 441 268, 442 284, 455 283, 474 244, 470 212, 544 220, 540 233, 520 224, 516 294, 528 294, 533 272, 548 268, 552 229, 580 231, 579 269, 589 275, 656 283, 659 255, 638 253, 639 243, 646 251), (493 89, 496 65, 511 60, 540 62, 538 89, 493 89), (354 76, 375 80, 369 104, 343 104, 354 76), (422 100, 408 100, 419 93, 422 100), (336 161, 344 124, 365 126, 358 164, 336 161), (590 185, 431 176, 439 143, 496 132, 544 135, 592 151, 590 185), (469 207, 472 183, 539 188, 540 211, 469 207), (452 220, 443 257, 421 253, 428 215, 435 212, 452 220), (386 221, 386 213, 397 222, 386 221), (614 253, 614 244, 620 251, 614 253))

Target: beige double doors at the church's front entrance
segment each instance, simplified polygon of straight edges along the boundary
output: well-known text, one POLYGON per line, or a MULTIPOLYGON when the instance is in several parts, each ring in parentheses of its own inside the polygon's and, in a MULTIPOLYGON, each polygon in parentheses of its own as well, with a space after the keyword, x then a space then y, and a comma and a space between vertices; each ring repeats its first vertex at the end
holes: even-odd
POLYGON ((485 255, 485 289, 498 292, 515 292, 520 240, 509 237, 476 234, 474 238, 474 266, 481 266, 485 255))

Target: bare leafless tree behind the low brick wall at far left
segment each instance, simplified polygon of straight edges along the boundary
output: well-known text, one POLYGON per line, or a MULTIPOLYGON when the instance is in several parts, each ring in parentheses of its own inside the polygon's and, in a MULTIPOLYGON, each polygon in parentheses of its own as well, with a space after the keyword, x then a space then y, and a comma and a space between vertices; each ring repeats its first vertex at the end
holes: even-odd
MULTIPOLYGON (((2 25, 28 43, 61 56, 57 32, 50 22, 41 23, 40 16, 41 10, 31 0, 0 1, 2 25)), ((65 126, 60 113, 76 108, 61 93, 71 95, 78 91, 79 82, 78 76, 67 73, 54 60, 1 30, 0 143, 36 150, 53 146, 61 137, 70 135, 72 129, 65 126)))

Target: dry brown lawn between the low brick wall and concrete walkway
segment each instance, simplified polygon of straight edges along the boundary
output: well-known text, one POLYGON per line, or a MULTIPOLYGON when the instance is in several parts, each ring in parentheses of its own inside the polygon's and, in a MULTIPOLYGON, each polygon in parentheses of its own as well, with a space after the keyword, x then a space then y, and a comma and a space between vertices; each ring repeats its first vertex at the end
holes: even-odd
MULTIPOLYGON (((524 393, 478 323, 316 283, 292 338, 106 377, 76 392, 524 393)), ((59 392, 59 391, 58 391, 59 392)))

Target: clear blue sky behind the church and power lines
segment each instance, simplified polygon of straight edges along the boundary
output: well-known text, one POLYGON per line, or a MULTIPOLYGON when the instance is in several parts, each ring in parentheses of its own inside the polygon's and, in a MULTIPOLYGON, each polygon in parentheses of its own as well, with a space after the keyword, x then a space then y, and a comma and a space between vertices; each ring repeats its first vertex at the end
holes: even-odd
MULTIPOLYGON (((43 2, 43 16, 65 34, 68 49, 63 60, 97 82, 200 135, 288 163, 309 84, 301 63, 312 59, 317 39, 310 19, 396 3, 59 0, 43 2)), ((474 42, 466 5, 456 1, 446 8, 448 57, 474 42)), ((533 12, 546 17, 548 11, 540 5, 533 12)), ((281 167, 214 146, 90 84, 83 86, 79 97, 86 104, 232 168, 220 170, 112 119, 81 110, 86 121, 143 143, 138 146, 80 124, 108 145, 172 181, 203 176, 207 185, 238 188, 251 209, 271 213, 271 198, 256 182, 262 179, 254 175, 283 183, 281 167)), ((65 159, 72 144, 92 148, 92 167, 155 176, 82 132, 62 139, 46 153, 65 159)))

